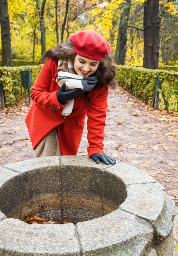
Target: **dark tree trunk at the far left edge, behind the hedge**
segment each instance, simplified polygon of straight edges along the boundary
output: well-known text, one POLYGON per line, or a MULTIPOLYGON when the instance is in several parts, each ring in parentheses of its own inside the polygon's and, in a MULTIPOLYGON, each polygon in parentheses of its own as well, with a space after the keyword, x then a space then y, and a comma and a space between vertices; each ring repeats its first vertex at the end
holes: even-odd
POLYGON ((12 66, 11 34, 7 0, 0 0, 2 66, 12 66))

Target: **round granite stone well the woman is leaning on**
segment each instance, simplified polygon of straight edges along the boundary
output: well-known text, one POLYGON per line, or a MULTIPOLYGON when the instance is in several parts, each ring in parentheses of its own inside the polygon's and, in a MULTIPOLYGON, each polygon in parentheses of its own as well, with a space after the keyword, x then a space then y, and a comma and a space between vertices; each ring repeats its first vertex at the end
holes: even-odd
POLYGON ((174 203, 125 163, 44 157, 0 168, 0 255, 172 256, 174 203), (29 225, 26 215, 69 221, 29 225))

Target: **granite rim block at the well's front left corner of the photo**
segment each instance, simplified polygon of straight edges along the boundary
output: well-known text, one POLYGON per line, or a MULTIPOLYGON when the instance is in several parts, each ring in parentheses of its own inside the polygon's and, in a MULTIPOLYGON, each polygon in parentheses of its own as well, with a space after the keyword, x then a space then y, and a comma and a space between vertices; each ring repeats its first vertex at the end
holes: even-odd
POLYGON ((0 231, 0 255, 3 256, 80 256, 73 224, 29 225, 9 218, 0 222, 0 231))

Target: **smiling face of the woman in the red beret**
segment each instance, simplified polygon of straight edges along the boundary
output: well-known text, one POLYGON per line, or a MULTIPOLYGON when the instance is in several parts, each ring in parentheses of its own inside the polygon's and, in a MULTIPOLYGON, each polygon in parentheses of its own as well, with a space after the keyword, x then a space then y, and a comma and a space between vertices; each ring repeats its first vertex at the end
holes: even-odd
POLYGON ((74 58, 74 69, 79 76, 90 76, 97 71, 99 61, 91 60, 80 55, 74 58))

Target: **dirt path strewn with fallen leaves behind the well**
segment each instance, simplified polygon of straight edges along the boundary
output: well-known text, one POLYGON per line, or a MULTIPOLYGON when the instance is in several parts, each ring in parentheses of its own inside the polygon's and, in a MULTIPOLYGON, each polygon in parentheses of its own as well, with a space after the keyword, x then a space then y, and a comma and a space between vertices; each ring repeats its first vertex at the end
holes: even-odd
MULTIPOLYGON (((24 103, 0 110, 0 166, 33 158, 24 103)), ((108 97, 105 153, 145 171, 160 182, 178 206, 176 113, 153 110, 117 89, 108 97)), ((87 155, 85 127, 78 155, 87 155)))

